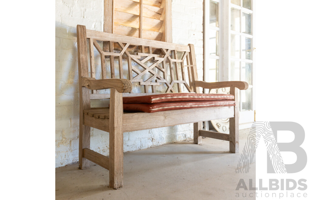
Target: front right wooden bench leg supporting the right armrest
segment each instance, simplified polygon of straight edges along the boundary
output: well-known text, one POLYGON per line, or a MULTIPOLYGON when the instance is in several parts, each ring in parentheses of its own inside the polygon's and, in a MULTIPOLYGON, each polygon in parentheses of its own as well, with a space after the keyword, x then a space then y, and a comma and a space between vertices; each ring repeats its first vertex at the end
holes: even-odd
POLYGON ((234 117, 229 118, 229 150, 232 153, 239 153, 239 99, 238 88, 230 87, 230 94, 234 95, 234 117))

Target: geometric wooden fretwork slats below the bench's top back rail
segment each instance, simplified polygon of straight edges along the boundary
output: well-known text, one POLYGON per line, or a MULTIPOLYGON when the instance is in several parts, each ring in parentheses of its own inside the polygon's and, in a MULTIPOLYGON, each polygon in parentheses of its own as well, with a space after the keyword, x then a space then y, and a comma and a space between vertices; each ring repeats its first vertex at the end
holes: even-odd
MULTIPOLYGON (((95 78, 94 48, 92 44, 100 53, 103 79, 109 75, 106 74, 106 56, 110 60, 110 78, 124 78, 122 59, 126 59, 128 70, 125 73, 128 73, 128 79, 144 86, 145 92, 147 86, 151 87, 152 92, 156 92, 155 88, 160 84, 166 86, 165 92, 182 92, 182 86, 188 92, 193 92, 191 70, 189 70, 193 65, 190 65, 189 52, 187 51, 135 46, 121 42, 107 42, 108 45, 104 51, 95 39, 90 38, 89 50, 92 78, 95 78), (119 77, 115 77, 115 58, 118 58, 119 77), (185 61, 187 64, 184 64, 185 61), (135 66, 139 66, 139 69, 132 66, 132 62, 135 66), (188 74, 188 80, 186 74, 188 74)), ((92 91, 92 93, 98 92, 92 91)))

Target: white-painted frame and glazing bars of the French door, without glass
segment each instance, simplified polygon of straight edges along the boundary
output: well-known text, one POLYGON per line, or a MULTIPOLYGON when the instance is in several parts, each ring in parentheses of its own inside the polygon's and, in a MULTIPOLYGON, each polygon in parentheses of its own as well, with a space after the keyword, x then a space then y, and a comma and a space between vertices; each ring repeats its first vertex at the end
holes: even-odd
MULTIPOLYGON (((240 69, 241 69, 241 61, 246 61, 248 63, 252 64, 252 85, 255 85, 255 51, 253 51, 253 47, 255 47, 254 40, 255 37, 255 26, 254 26, 254 18, 255 18, 255 0, 252 0, 252 10, 248 10, 246 8, 237 6, 235 4, 231 4, 230 0, 212 0, 214 2, 219 3, 219 28, 213 27, 209 25, 209 11, 210 11, 210 1, 204 0, 204 81, 209 82, 209 59, 219 59, 218 61, 218 81, 230 81, 230 66, 231 61, 239 61, 240 63, 240 69), (240 10, 240 27, 242 24, 242 13, 248 12, 252 14, 251 17, 251 33, 252 35, 248 35, 245 33, 241 33, 241 30, 239 32, 232 31, 230 29, 231 26, 231 7, 239 9, 240 10), (218 30, 219 31, 219 41, 218 41, 218 52, 219 56, 213 56, 209 53, 209 30, 218 30), (252 51, 252 57, 251 60, 245 60, 241 59, 242 55, 242 41, 240 37, 240 58, 231 58, 231 33, 240 35, 240 36, 246 36, 248 38, 252 38, 252 44, 251 44, 251 51, 252 51)), ((240 70, 241 72, 241 70, 240 70)), ((252 88, 252 108, 248 111, 242 111, 242 106, 240 106, 240 129, 251 127, 252 122, 254 121, 254 111, 255 111, 255 88, 252 88)), ((208 89, 204 89, 204 93, 208 93, 208 89)), ((242 101, 240 101, 240 104, 242 104, 242 101)), ((208 124, 207 122, 205 123, 208 124)), ((208 126, 206 126, 208 128, 208 126)))

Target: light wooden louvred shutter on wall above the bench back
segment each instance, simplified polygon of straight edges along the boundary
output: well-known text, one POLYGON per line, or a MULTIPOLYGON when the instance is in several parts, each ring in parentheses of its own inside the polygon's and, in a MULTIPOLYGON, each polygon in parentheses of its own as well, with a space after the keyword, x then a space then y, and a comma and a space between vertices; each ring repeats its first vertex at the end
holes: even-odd
POLYGON ((171 0, 104 0, 104 32, 172 42, 171 0))

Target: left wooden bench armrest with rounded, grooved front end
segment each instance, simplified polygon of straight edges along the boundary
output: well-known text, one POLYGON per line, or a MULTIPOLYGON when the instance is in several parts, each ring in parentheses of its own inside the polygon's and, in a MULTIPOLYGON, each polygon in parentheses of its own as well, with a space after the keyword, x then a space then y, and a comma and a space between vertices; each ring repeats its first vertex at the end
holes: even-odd
POLYGON ((95 79, 95 78, 81 78, 82 86, 90 90, 103 90, 115 88, 120 93, 127 93, 132 91, 132 82, 123 78, 108 78, 108 79, 95 79))

